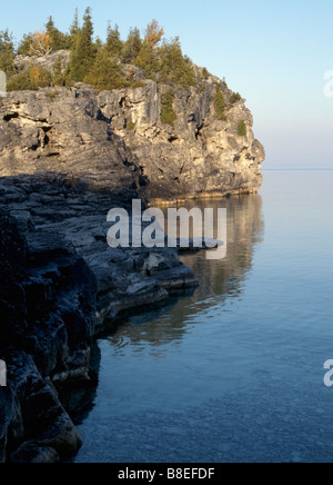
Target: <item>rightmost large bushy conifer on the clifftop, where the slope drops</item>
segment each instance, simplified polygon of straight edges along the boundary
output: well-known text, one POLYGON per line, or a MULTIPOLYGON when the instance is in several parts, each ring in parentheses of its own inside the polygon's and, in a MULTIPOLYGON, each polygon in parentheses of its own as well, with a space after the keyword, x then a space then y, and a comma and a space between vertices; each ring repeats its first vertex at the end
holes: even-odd
POLYGON ((196 85, 193 68, 184 59, 179 38, 164 42, 160 56, 161 82, 183 86, 185 89, 196 85))

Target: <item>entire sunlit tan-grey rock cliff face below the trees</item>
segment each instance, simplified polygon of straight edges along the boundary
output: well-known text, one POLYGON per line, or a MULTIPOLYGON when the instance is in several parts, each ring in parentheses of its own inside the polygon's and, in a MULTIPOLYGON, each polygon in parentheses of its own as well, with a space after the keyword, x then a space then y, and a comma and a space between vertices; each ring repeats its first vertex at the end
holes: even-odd
MULTIPOLYGON (((150 200, 256 191, 264 150, 244 100, 214 109, 218 78, 173 87, 174 127, 162 123, 170 87, 102 91, 78 83, 9 93, 0 107, 0 175, 61 171, 113 194, 137 181, 150 200), (239 136, 240 121, 246 135, 239 136)), ((231 91, 223 86, 225 99, 231 91)))

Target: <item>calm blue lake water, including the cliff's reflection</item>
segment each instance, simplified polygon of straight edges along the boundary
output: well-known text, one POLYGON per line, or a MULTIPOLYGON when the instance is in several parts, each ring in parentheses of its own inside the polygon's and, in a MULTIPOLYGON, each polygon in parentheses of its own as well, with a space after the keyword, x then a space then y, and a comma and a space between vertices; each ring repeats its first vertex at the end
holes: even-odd
POLYGON ((333 461, 333 171, 264 177, 194 294, 98 343, 77 463, 333 461))

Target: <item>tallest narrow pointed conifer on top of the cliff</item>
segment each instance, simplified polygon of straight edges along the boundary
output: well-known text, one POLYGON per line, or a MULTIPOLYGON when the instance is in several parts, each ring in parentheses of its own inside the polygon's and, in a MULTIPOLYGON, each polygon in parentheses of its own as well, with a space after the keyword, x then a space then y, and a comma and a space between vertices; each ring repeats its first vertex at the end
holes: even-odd
POLYGON ((83 26, 79 30, 72 48, 71 60, 68 68, 69 77, 75 81, 83 81, 94 62, 97 48, 93 43, 92 36, 93 23, 91 9, 88 8, 83 17, 83 26))

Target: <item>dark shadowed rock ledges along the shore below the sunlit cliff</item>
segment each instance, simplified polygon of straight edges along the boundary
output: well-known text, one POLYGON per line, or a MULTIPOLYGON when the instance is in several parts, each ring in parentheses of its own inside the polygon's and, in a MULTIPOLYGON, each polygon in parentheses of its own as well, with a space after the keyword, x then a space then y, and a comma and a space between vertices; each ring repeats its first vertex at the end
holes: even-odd
MULTIPOLYGON (((113 197, 113 198, 112 198, 113 197)), ((112 249, 113 207, 61 174, 0 179, 0 463, 58 463, 82 439, 57 389, 90 379, 94 338, 198 285, 178 250, 112 249)))

